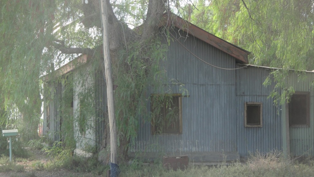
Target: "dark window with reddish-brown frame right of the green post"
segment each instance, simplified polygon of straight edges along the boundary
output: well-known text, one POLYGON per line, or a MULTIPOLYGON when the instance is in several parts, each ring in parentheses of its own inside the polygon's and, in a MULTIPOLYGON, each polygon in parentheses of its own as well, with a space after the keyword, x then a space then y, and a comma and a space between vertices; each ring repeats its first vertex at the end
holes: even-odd
POLYGON ((310 92, 295 92, 288 106, 289 126, 310 126, 310 92))

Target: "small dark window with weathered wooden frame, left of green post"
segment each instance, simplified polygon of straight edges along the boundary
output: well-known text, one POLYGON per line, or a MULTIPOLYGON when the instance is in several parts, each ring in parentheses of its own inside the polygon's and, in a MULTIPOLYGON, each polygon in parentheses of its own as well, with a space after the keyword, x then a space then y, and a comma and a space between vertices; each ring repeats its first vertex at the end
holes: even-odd
POLYGON ((263 103, 246 102, 244 105, 244 126, 262 127, 263 126, 263 103))

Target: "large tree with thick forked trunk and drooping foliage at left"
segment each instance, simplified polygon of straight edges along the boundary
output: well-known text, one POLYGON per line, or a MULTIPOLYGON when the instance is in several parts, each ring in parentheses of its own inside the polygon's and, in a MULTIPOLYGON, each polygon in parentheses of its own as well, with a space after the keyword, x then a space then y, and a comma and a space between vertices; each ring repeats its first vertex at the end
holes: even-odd
MULTIPOLYGON (((119 154, 125 157, 128 143, 136 135, 143 87, 154 81, 160 70, 157 63, 164 59, 166 49, 157 37, 160 19, 166 9, 180 7, 180 1, 106 3, 113 79, 119 85, 115 91, 119 154)), ((93 66, 102 66, 101 31, 99 0, 0 1, 0 90, 4 100, 0 109, 9 103, 18 106, 23 132, 29 132, 27 139, 36 136, 41 116, 41 77, 80 54, 89 55, 93 66)))

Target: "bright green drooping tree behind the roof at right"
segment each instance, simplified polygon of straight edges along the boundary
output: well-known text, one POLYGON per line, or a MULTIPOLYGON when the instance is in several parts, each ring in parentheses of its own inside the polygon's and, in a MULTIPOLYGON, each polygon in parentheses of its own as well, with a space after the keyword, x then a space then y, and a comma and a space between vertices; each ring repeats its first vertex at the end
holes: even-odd
POLYGON ((198 0, 194 3, 192 23, 252 52, 251 64, 284 69, 273 71, 269 77, 277 83, 271 96, 281 103, 294 92, 284 82, 288 70, 314 70, 314 1, 198 0), (279 95, 278 89, 286 91, 279 95))

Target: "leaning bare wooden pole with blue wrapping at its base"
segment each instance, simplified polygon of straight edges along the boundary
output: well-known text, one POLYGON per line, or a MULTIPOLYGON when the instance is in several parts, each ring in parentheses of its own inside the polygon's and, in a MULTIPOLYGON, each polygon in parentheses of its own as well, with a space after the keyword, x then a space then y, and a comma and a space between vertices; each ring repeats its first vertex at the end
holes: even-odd
POLYGON ((104 60, 105 60, 105 73, 107 85, 107 106, 110 125, 110 153, 111 163, 110 171, 111 177, 119 176, 119 166, 117 159, 117 136, 116 136, 116 121, 115 121, 115 106, 113 97, 113 83, 111 73, 111 60, 109 54, 109 40, 108 40, 108 14, 106 0, 100 0, 101 20, 103 26, 103 46, 104 46, 104 60))

